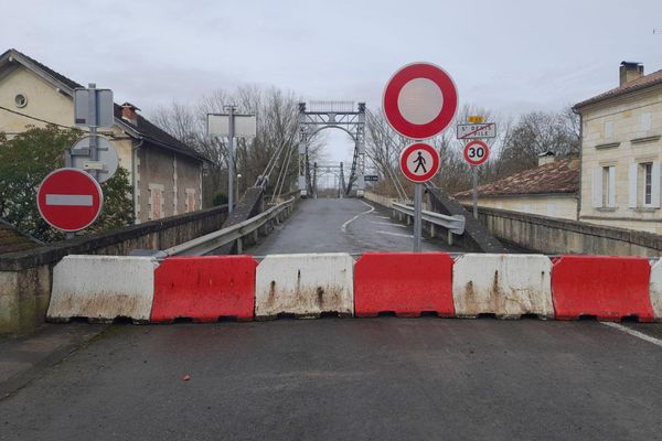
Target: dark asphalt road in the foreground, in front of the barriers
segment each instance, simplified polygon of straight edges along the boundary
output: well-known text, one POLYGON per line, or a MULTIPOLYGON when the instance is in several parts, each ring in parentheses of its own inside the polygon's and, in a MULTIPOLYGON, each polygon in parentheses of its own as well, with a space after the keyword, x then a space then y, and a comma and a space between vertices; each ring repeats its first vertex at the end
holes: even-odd
POLYGON ((116 325, 1 399, 0 440, 652 440, 661 366, 597 322, 116 325))

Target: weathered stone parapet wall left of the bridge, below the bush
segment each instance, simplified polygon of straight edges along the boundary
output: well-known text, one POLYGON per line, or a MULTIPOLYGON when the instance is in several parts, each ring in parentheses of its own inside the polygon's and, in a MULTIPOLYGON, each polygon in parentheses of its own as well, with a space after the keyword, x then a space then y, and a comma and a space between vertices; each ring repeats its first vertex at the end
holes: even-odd
POLYGON ((0 255, 0 334, 26 332, 43 323, 53 267, 64 256, 166 249, 220 229, 226 218, 227 206, 220 206, 0 255))

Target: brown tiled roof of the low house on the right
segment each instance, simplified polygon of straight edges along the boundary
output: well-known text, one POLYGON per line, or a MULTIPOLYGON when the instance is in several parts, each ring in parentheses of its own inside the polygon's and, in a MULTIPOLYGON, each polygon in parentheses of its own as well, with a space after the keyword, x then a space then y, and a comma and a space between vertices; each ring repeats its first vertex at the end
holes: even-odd
MULTIPOLYGON (((554 162, 524 170, 499 181, 480 185, 481 196, 534 195, 576 193, 579 190, 579 160, 558 159, 554 162)), ((456 193, 455 197, 469 197, 472 191, 456 193)))

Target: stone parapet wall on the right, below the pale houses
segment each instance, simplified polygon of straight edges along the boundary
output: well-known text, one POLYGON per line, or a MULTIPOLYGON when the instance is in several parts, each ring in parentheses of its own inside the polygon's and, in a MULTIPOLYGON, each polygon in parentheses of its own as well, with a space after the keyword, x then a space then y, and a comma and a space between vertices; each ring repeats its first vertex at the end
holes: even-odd
POLYGON ((650 233, 487 207, 479 207, 479 219, 501 240, 549 255, 662 254, 662 236, 650 233))

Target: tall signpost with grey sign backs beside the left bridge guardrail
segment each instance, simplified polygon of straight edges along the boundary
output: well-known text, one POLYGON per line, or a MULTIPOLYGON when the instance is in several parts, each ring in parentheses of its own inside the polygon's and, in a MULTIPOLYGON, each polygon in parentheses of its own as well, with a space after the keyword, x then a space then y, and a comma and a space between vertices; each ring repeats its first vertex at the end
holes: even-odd
POLYGON ((207 135, 227 137, 227 212, 234 209, 234 139, 252 138, 257 133, 255 115, 235 114, 236 106, 223 106, 227 114, 207 114, 207 135))

